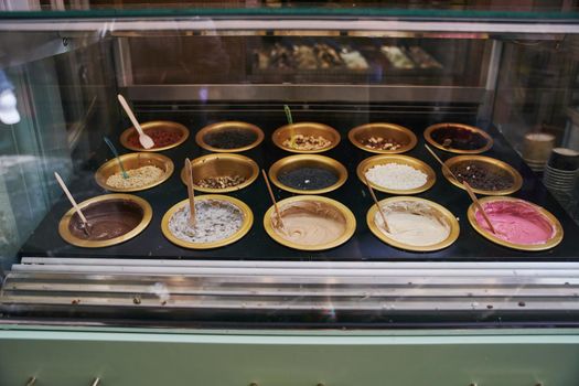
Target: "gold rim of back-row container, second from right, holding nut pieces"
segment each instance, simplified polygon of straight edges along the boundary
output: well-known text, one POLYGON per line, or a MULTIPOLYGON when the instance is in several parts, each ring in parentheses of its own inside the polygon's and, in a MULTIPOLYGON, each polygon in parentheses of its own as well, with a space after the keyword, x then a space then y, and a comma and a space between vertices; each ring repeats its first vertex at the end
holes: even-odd
POLYGON ((356 148, 376 154, 405 153, 414 149, 414 147, 418 142, 416 135, 409 129, 405 128, 404 126, 387 122, 373 122, 357 126, 349 131, 347 138, 356 148), (400 146, 400 148, 396 150, 378 150, 371 149, 364 146, 364 143, 362 143, 362 140, 364 138, 369 138, 374 136, 392 138, 399 141, 400 143, 406 144, 400 146))

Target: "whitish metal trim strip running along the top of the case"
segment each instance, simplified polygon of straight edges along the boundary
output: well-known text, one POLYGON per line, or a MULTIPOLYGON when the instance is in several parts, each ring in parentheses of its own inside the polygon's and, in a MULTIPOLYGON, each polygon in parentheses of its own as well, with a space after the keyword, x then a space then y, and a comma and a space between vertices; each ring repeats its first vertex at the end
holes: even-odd
POLYGON ((481 21, 401 21, 369 19, 364 15, 344 17, 332 20, 317 17, 302 19, 265 19, 254 17, 232 17, 211 19, 191 17, 180 20, 2 20, 0 31, 94 31, 103 34, 112 31, 256 31, 256 30, 334 30, 334 31, 419 31, 457 33, 579 33, 579 24, 573 21, 548 23, 537 22, 481 22, 481 21), (312 23, 312 21, 315 21, 312 23))

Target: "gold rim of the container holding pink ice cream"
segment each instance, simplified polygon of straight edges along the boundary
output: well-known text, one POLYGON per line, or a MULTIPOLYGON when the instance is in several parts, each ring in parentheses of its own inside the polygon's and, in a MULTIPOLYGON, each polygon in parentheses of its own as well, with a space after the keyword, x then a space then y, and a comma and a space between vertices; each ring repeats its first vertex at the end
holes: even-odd
POLYGON ((476 221, 476 217, 474 216, 475 213, 476 213, 476 207, 474 206, 474 204, 471 204, 469 206, 469 210, 467 211, 467 217, 469 217, 469 223, 474 228, 474 230, 476 230, 481 236, 483 236, 487 240, 490 240, 490 242, 492 242, 494 244, 501 245, 503 247, 517 249, 517 250, 524 250, 524 251, 539 251, 539 250, 551 249, 551 248, 556 247, 557 245, 559 245, 559 243, 562 240, 564 230, 562 230, 561 223, 559 223, 557 217, 555 217, 549 211, 547 211, 543 206, 539 206, 537 204, 534 204, 534 203, 525 201, 525 200, 515 199, 515 197, 493 197, 493 196, 487 196, 487 197, 479 199, 479 202, 481 203, 481 205, 484 205, 484 204, 491 203, 491 202, 496 202, 496 201, 523 202, 523 203, 532 206, 533 208, 535 208, 540 215, 543 215, 553 225, 553 227, 555 229, 555 234, 545 244, 528 244, 527 245, 527 244, 515 244, 515 243, 511 243, 511 242, 504 240, 502 238, 498 238, 498 237, 494 236, 491 232, 486 230, 481 225, 479 225, 479 222, 476 221))

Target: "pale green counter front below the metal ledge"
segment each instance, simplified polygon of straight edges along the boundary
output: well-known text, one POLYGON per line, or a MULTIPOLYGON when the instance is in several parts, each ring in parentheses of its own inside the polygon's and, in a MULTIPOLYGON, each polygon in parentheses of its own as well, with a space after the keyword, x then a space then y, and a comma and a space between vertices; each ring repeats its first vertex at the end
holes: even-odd
POLYGON ((578 363, 579 334, 565 329, 0 331, 1 385, 568 386, 578 363))

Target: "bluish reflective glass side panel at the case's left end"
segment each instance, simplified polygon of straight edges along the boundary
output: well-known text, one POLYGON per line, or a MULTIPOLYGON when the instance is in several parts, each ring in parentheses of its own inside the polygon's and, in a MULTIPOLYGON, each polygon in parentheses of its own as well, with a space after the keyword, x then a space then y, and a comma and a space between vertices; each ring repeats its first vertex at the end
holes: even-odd
MULTIPOLYGON (((54 41, 54 36, 19 37, 39 50, 35 53, 54 41)), ((57 41, 62 44, 62 39, 57 41)), ((0 130, 2 235, 7 237, 0 254, 8 268, 15 261, 19 247, 61 197, 53 173, 57 171, 66 181, 83 175, 83 165, 94 152, 90 142, 95 136, 100 141, 110 130, 116 106, 110 109, 105 95, 114 92, 107 87, 116 86, 111 46, 106 42, 40 60, 32 54, 29 62, 25 56, 19 57, 18 46, 3 44, 3 49, 17 53, 10 55, 13 62, 23 62, 3 69, 20 116, 13 125, 1 124, 0 130)))

